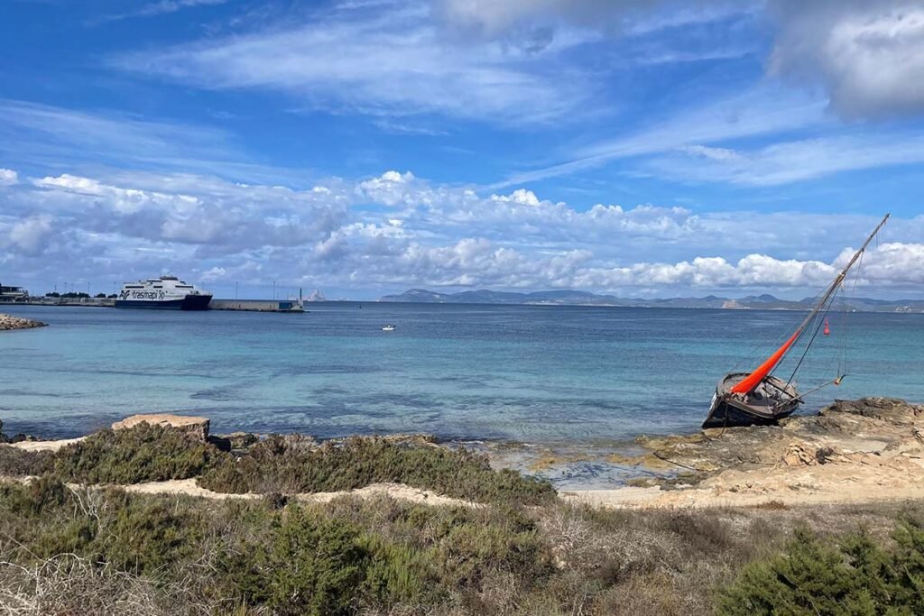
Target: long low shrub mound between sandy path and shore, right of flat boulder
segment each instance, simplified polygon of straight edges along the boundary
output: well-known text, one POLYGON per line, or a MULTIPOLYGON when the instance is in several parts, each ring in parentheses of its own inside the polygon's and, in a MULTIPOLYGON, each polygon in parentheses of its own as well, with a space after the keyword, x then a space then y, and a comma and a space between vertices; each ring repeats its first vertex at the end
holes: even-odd
POLYGON ((473 501, 540 504, 554 498, 547 481, 494 471, 486 456, 380 438, 306 447, 271 437, 240 460, 222 459, 200 480, 215 491, 263 494, 356 489, 378 482, 405 483, 473 501))

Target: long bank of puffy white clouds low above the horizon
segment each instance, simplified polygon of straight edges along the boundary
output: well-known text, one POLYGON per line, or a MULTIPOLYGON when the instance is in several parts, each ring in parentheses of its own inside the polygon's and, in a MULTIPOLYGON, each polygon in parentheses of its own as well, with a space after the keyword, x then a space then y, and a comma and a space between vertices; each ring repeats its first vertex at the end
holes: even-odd
MULTIPOLYGON (((481 196, 409 171, 306 190, 199 175, 62 174, 8 193, 0 214, 8 272, 176 271, 217 285, 812 289, 842 264, 845 237, 862 238, 874 223, 654 205, 578 210, 527 188, 481 196)), ((908 288, 921 282, 924 218, 890 227, 890 242, 864 260, 865 280, 908 288)))

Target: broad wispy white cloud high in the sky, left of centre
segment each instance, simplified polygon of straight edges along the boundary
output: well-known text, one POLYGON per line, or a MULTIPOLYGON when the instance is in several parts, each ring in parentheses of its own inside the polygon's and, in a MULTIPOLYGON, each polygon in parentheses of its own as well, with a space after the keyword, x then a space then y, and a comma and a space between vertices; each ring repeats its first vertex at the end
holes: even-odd
POLYGON ((501 43, 447 36, 426 5, 325 15, 286 30, 128 54, 115 66, 204 88, 286 91, 312 108, 438 113, 506 123, 558 118, 590 82, 501 43))

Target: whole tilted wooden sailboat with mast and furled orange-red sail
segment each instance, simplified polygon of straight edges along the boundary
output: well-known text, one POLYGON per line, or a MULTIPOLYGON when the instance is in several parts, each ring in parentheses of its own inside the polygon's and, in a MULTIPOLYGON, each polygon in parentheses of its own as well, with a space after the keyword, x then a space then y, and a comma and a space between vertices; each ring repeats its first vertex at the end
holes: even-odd
POLYGON ((776 349, 772 356, 751 372, 729 372, 715 388, 709 416, 703 422, 703 428, 732 428, 735 426, 766 426, 775 424, 784 417, 792 415, 802 403, 802 397, 830 384, 840 384, 846 375, 838 374, 833 380, 824 383, 811 392, 798 393, 793 378, 802 365, 802 359, 808 355, 808 349, 815 341, 822 324, 822 315, 826 316, 831 308, 833 298, 847 277, 847 272, 857 263, 869 246, 873 237, 879 233, 882 225, 889 220, 886 214, 881 222, 869 234, 863 246, 857 250, 845 268, 839 272, 831 284, 825 287, 819 299, 808 312, 808 316, 799 323, 796 332, 776 349), (803 340, 808 340, 802 358, 788 380, 773 375, 773 370, 780 365, 789 351, 803 340))

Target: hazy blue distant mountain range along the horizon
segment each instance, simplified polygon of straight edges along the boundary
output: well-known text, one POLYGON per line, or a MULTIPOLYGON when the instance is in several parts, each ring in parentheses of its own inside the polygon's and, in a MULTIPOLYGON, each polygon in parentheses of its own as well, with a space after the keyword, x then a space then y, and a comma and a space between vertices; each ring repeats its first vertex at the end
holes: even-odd
MULTIPOLYGON (((747 296, 738 299, 730 297, 671 297, 667 299, 627 299, 602 296, 588 291, 539 291, 516 293, 508 291, 462 291, 460 293, 436 293, 426 289, 410 289, 396 296, 383 296, 383 302, 411 302, 422 304, 526 304, 533 306, 630 306, 638 308, 729 308, 729 309, 775 309, 807 310, 813 297, 793 301, 771 295, 747 296)), ((847 299, 847 308, 859 312, 924 312, 922 299, 847 299)), ((840 302, 835 304, 840 308, 840 302)))

